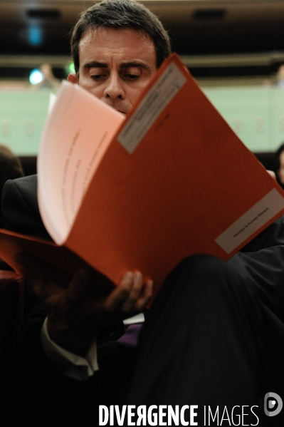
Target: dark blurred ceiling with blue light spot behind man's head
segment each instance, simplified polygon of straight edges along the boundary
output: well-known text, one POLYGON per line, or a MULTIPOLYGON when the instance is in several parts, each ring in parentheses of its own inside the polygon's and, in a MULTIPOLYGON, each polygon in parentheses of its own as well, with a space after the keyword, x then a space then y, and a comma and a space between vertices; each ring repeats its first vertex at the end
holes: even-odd
MULTIPOLYGON (((96 2, 0 0, 0 56, 68 56, 70 29, 80 12, 96 2)), ((159 16, 180 55, 283 56, 283 0, 141 2, 159 16)))

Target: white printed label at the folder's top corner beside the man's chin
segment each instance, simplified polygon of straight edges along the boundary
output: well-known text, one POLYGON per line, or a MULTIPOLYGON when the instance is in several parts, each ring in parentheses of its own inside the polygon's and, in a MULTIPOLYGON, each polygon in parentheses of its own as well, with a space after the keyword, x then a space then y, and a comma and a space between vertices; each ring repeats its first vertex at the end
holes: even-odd
POLYGON ((164 110, 185 82, 186 78, 175 63, 171 63, 164 70, 117 138, 128 153, 133 153, 159 113, 164 110))

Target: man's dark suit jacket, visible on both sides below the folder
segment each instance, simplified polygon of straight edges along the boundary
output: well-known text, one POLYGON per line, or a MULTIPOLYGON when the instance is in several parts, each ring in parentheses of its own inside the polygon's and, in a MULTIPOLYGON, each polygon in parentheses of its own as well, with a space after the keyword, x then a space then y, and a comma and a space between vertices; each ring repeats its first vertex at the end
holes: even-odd
MULTIPOLYGON (((6 228, 49 238, 38 212, 36 175, 6 182, 2 204, 6 228)), ((246 272, 256 280, 260 289, 264 285, 263 301, 265 299, 265 304, 270 307, 272 313, 277 314, 279 319, 283 319, 283 218, 279 218, 267 227, 241 252, 232 257, 230 262, 234 262, 234 259, 237 265, 245 266, 246 272)), ((157 305, 159 304, 156 304, 156 307, 157 305)), ((65 379, 49 366, 41 349, 39 334, 44 317, 45 312, 41 304, 34 304, 23 331, 19 364, 21 369, 16 378, 19 390, 16 406, 22 403, 21 411, 18 410, 21 414, 21 422, 25 420, 29 426, 33 424, 38 426, 38 418, 35 416, 35 411, 38 411, 41 426, 53 423, 55 426, 76 424, 90 426, 90 423, 96 425, 98 404, 110 405, 124 402, 135 366, 135 354, 117 347, 117 344, 112 341, 110 346, 102 345, 99 349, 100 371, 92 379, 85 384, 65 379), (45 418, 46 424, 43 413, 48 415, 45 418)), ((164 326, 166 339, 167 327, 173 328, 173 322, 174 317, 168 319, 168 325, 164 326)), ((15 396, 13 396, 13 402, 15 402, 15 396)), ((16 406, 14 403, 14 408, 16 406)))

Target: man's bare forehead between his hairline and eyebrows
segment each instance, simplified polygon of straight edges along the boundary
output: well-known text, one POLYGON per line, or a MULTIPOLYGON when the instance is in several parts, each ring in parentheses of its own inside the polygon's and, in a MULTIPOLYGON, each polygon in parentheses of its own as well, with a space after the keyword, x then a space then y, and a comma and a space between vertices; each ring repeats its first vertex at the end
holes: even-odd
POLYGON ((133 29, 98 28, 85 31, 79 43, 80 66, 88 61, 144 61, 156 66, 154 42, 133 29))

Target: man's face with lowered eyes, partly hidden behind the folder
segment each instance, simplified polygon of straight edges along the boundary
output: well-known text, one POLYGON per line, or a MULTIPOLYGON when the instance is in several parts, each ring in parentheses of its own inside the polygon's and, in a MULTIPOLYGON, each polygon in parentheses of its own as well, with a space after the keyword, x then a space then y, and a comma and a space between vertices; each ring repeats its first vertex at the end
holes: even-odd
POLYGON ((156 52, 147 34, 132 29, 96 29, 79 44, 78 83, 103 102, 127 114, 156 71, 156 52))

